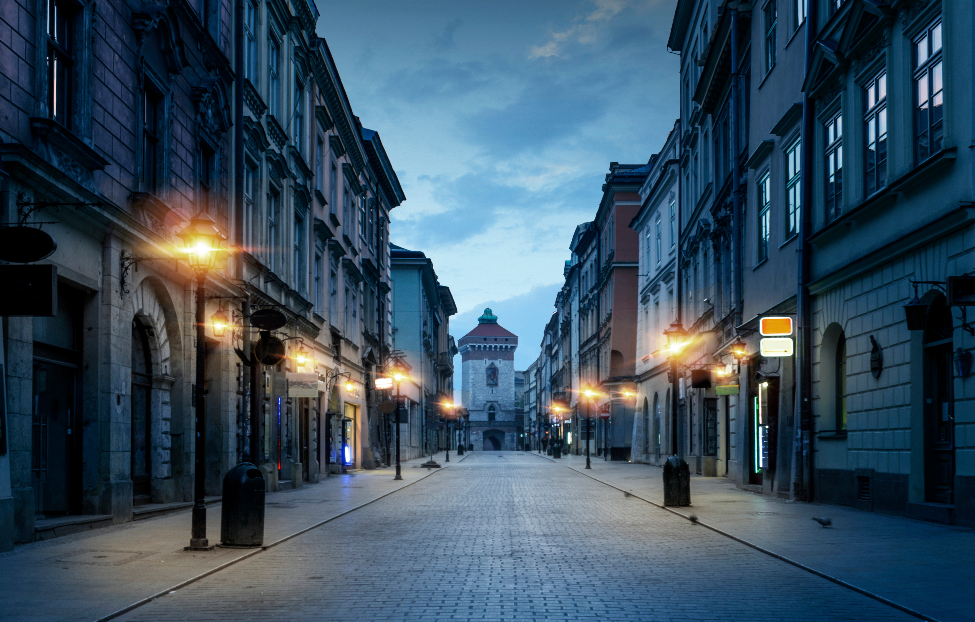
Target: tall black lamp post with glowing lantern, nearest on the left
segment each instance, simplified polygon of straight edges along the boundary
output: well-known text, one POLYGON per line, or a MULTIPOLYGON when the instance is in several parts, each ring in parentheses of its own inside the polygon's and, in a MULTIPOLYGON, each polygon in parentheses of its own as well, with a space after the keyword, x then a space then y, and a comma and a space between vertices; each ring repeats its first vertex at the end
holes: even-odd
POLYGON ((196 447, 193 463, 193 523, 188 551, 209 551, 214 547, 207 539, 207 505, 204 502, 207 483, 207 274, 228 254, 220 248, 224 239, 216 223, 206 212, 192 218, 179 233, 186 252, 186 262, 196 274, 196 447))

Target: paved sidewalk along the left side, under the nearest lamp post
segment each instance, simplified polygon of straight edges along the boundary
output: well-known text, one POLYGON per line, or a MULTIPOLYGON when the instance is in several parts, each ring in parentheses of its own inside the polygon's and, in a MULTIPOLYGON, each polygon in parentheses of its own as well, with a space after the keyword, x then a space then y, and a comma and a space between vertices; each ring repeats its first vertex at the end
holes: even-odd
MULTIPOLYGON (((458 460, 443 458, 436 456, 444 467, 458 460)), ((18 546, 0 556, 0 620, 106 619, 441 470, 421 468, 426 459, 403 462, 402 481, 393 480, 393 468, 361 470, 267 494, 263 548, 183 551, 189 510, 18 546)), ((207 535, 211 544, 220 541, 219 503, 207 508, 207 535)))

